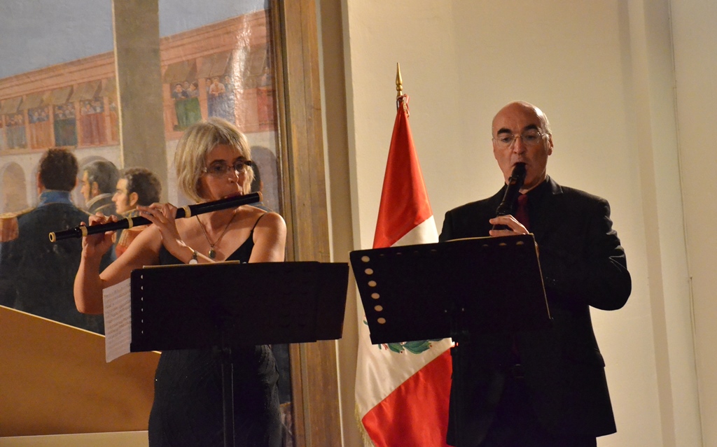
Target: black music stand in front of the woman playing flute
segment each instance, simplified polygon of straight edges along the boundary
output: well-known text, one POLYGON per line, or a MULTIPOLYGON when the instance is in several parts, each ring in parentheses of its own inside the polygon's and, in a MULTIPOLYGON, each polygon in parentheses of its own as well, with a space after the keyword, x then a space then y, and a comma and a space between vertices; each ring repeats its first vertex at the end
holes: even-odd
POLYGON ((219 347, 224 446, 234 446, 232 347, 341 338, 347 287, 346 263, 137 269, 130 279, 130 351, 219 347))

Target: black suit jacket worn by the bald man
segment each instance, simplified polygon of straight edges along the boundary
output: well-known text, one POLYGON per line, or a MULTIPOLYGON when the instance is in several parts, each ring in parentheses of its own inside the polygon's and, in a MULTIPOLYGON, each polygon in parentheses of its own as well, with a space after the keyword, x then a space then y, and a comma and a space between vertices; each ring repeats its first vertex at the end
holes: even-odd
MULTIPOLYGON (((467 203, 445 215, 441 241, 488 236, 505 186, 495 196, 467 203)), ((625 251, 612 229, 603 198, 560 186, 548 178, 528 193, 530 231, 539 250, 553 325, 515 335, 525 381, 538 419, 553 433, 602 436, 616 431, 604 360, 589 307, 619 309, 632 287, 625 251)), ((518 272, 516 272, 518 274, 518 272)), ((449 443, 477 446, 490 427, 514 361, 513 335, 475 337, 454 354, 449 443), (458 360, 456 360, 458 359, 458 360), (455 383, 461 368, 462 389, 455 383), (460 416, 460 442, 453 438, 460 416)), ((519 429, 519 428, 517 428, 519 429)))

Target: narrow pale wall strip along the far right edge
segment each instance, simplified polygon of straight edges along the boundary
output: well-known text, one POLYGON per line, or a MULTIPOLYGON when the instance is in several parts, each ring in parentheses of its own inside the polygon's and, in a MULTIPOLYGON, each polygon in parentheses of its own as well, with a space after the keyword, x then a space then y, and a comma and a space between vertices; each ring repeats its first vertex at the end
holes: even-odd
POLYGON ((717 446, 717 2, 673 0, 675 84, 704 446, 717 446))

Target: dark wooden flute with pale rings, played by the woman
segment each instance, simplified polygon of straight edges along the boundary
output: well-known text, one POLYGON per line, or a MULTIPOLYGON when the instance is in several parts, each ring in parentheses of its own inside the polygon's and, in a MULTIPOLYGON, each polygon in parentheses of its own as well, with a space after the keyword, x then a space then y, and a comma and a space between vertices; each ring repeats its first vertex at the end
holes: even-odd
MULTIPOLYGON (((248 193, 243 196, 220 198, 217 201, 195 203, 194 205, 177 208, 175 218, 197 216, 199 214, 211 213, 212 211, 237 208, 242 205, 250 205, 251 203, 257 203, 260 201, 262 201, 262 193, 248 193)), ((105 231, 116 231, 120 229, 130 229, 133 226, 146 225, 148 223, 151 223, 148 218, 140 216, 123 218, 121 221, 116 222, 100 223, 100 225, 80 225, 72 229, 53 231, 49 234, 49 240, 51 242, 57 242, 62 241, 62 239, 81 238, 89 236, 90 234, 104 233, 105 231)))

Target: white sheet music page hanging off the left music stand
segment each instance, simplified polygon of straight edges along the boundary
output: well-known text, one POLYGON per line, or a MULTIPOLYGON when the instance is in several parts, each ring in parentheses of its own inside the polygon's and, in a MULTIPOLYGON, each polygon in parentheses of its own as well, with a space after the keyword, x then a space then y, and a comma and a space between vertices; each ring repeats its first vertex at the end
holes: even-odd
POLYGON ((130 279, 103 290, 105 306, 105 360, 109 363, 130 352, 132 314, 130 279))

